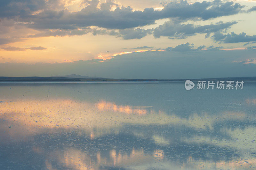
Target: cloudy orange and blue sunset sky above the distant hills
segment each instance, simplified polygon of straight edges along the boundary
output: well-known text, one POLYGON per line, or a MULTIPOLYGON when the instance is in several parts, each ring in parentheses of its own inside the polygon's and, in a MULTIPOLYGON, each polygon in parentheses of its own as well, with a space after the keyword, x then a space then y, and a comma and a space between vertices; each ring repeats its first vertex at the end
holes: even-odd
POLYGON ((0 76, 256 76, 256 0, 0 4, 0 76))

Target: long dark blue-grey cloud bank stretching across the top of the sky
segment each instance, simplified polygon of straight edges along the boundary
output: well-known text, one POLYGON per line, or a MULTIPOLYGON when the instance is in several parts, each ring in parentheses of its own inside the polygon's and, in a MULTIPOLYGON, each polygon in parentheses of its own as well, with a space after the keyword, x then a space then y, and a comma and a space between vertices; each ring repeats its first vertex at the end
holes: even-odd
POLYGON ((85 1, 87 5, 81 11, 70 12, 67 9, 57 11, 62 1, 40 0, 0 0, 0 18, 19 17, 20 22, 36 29, 76 29, 78 27, 98 26, 108 29, 126 29, 137 26, 154 24, 156 19, 179 18, 207 20, 220 16, 237 14, 243 6, 233 2, 195 2, 187 1, 171 2, 161 11, 153 8, 145 8, 144 11, 133 11, 131 7, 117 7, 110 11, 113 1, 107 1, 100 5, 98 0, 85 1), (40 11, 42 10, 42 11, 40 11), (40 11, 36 13, 36 11, 40 11))

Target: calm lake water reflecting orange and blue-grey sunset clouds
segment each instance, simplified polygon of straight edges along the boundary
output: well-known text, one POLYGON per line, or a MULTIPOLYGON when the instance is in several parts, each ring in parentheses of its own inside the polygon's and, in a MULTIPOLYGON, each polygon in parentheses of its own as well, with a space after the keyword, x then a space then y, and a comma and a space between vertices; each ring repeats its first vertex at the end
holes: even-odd
POLYGON ((256 83, 0 83, 0 169, 255 169, 256 83))

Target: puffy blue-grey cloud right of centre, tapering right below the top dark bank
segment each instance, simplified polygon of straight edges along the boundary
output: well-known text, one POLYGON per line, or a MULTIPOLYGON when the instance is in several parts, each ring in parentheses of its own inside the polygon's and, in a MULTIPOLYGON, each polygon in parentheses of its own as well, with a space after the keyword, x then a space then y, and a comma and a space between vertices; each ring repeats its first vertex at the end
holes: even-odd
POLYGON ((230 26, 236 24, 236 21, 223 23, 222 21, 211 25, 193 25, 193 24, 180 24, 175 22, 165 22, 155 28, 154 37, 168 36, 171 38, 186 38, 187 36, 195 35, 196 33, 212 33, 223 29, 228 29, 230 26))

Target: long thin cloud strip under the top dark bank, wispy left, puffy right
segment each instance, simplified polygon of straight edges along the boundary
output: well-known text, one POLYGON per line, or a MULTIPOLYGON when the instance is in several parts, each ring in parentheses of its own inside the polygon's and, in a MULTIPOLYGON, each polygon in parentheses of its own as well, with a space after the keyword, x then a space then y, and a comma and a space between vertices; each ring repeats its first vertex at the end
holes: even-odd
MULTIPOLYGON (((83 29, 74 30, 47 30, 42 33, 37 33, 34 35, 29 35, 28 37, 41 37, 41 36, 73 36, 73 35, 84 35, 92 32, 93 35, 114 35, 117 37, 122 37, 124 40, 131 39, 141 39, 149 34, 154 35, 155 38, 160 38, 160 36, 168 36, 169 38, 186 38, 188 36, 195 35, 196 33, 212 33, 220 30, 225 30, 230 28, 232 25, 236 24, 236 21, 223 23, 222 21, 211 24, 211 25, 193 25, 193 24, 181 24, 176 22, 165 22, 163 25, 157 26, 155 29, 123 29, 119 31, 107 30, 107 29, 97 29, 86 27, 83 29)), ((207 36, 209 37, 210 34, 207 36)))

